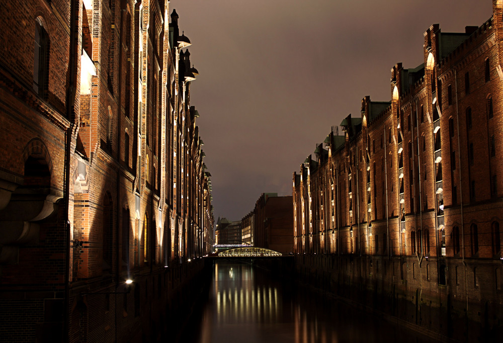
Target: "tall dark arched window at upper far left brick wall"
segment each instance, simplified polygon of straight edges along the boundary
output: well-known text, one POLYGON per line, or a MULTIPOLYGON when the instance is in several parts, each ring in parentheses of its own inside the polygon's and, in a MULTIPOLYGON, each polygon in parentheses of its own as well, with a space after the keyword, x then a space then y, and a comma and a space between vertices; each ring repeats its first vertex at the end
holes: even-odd
POLYGON ((49 35, 42 20, 35 20, 35 55, 33 61, 33 90, 47 100, 49 83, 49 35))

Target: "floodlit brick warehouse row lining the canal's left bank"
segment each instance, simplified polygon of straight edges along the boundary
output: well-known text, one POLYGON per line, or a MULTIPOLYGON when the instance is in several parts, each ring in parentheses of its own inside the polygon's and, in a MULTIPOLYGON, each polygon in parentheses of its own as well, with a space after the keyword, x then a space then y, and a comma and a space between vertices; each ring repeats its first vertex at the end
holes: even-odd
POLYGON ((4 6, 1 340, 156 340, 211 246, 190 41, 162 0, 4 6))

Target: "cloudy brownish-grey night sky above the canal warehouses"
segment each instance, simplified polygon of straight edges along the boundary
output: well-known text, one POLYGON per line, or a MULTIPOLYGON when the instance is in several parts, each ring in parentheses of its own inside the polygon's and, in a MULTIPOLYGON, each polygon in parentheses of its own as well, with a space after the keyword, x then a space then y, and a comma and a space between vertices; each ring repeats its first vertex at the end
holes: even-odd
POLYGON ((240 220, 264 192, 291 195, 292 173, 361 100, 389 101, 390 69, 424 62, 423 33, 464 32, 491 0, 172 0, 199 70, 218 216, 240 220))

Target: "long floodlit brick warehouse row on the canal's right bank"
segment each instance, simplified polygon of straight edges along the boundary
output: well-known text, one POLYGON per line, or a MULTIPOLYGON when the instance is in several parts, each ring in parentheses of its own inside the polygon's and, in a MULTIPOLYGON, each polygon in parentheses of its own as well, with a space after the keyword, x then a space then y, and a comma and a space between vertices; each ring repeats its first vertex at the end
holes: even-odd
POLYGON ((361 256, 344 260, 355 282, 450 303, 481 336, 503 314, 502 14, 493 1, 480 27, 432 25, 424 63, 391 68, 391 101, 364 97, 293 175, 296 252, 361 256))

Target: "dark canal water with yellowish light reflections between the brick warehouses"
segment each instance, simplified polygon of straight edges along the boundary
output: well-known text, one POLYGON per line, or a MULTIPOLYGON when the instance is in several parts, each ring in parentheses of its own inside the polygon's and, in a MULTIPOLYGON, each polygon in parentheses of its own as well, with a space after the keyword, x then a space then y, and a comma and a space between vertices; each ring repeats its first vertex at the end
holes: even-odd
POLYGON ((216 262, 206 303, 181 342, 434 342, 251 264, 216 262))

